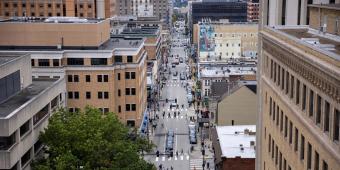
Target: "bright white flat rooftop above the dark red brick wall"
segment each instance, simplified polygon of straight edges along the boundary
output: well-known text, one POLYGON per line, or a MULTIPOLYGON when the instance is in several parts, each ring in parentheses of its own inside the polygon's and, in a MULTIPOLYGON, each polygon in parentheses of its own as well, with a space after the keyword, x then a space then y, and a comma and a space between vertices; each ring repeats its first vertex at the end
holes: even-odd
POLYGON ((256 125, 217 126, 216 131, 221 157, 255 158, 256 125), (251 142, 254 142, 254 146, 251 146, 251 142))

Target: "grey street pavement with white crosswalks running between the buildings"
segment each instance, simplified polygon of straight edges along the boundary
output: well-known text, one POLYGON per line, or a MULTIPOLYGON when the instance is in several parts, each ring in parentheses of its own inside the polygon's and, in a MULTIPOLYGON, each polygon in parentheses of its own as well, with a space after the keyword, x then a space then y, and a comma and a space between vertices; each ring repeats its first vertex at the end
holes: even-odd
MULTIPOLYGON (((181 44, 177 39, 182 41, 184 37, 173 35, 173 44, 181 44)), ((149 139, 156 145, 156 147, 151 153, 146 154, 144 159, 153 163, 158 169, 164 170, 199 170, 203 169, 203 161, 209 162, 210 167, 214 167, 212 164, 213 161, 211 161, 213 160, 213 152, 206 149, 205 157, 202 156, 200 142, 201 134, 196 132, 197 144, 190 144, 189 142, 188 125, 190 123, 190 117, 196 117, 196 114, 193 105, 189 107, 185 84, 192 83, 192 80, 179 79, 180 73, 187 75, 190 74, 186 73, 188 63, 179 63, 175 68, 171 67, 171 63, 175 60, 175 56, 177 55, 182 57, 185 61, 187 55, 184 47, 172 47, 170 50, 169 63, 167 67, 168 70, 171 71, 171 74, 169 74, 169 72, 165 72, 168 79, 165 82, 165 86, 161 89, 160 98, 171 101, 168 103, 164 100, 159 101, 159 111, 152 113, 155 117, 158 117, 158 119, 156 118, 154 120, 156 121, 157 126, 155 128, 149 128, 149 139), (171 55, 174 57, 171 57, 171 55), (177 76, 173 75, 174 72, 178 72, 177 76), (174 99, 177 99, 177 104, 179 105, 178 108, 170 108, 170 103, 173 103, 174 99), (182 105, 184 105, 183 108, 182 105), (167 133, 170 129, 173 130, 175 134, 173 140, 173 157, 170 157, 169 152, 166 151, 166 145, 168 142, 167 133), (192 146, 194 147, 194 150, 191 152, 190 148, 192 146), (155 154, 157 151, 160 152, 159 157, 155 154), (176 154, 176 151, 178 154, 176 154), (160 165, 162 168, 160 168, 160 165)), ((153 117, 153 115, 151 117, 153 117)), ((209 141, 206 141, 206 143, 209 144, 209 141)), ((205 169, 207 169, 207 166, 205 166, 205 169)))

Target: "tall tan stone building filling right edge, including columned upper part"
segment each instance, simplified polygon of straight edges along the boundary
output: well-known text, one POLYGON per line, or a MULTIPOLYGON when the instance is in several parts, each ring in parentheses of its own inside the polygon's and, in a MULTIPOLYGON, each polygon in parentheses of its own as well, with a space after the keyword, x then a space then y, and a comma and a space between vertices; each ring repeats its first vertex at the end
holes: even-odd
POLYGON ((340 167, 339 3, 261 1, 258 170, 340 167))

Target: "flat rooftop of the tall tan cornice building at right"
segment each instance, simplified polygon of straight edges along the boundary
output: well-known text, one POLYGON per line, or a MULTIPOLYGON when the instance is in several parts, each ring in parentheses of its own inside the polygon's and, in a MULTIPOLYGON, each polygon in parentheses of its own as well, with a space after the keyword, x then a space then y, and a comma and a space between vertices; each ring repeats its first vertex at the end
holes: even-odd
POLYGON ((306 26, 278 26, 275 27, 275 30, 340 61, 340 36, 338 35, 323 33, 306 26))

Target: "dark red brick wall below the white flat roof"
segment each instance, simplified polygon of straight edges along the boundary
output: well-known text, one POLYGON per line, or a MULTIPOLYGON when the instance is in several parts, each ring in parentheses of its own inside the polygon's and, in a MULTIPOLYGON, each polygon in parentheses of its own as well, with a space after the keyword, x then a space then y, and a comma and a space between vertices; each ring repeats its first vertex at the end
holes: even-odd
POLYGON ((255 170, 255 158, 227 158, 223 160, 223 170, 255 170))

